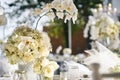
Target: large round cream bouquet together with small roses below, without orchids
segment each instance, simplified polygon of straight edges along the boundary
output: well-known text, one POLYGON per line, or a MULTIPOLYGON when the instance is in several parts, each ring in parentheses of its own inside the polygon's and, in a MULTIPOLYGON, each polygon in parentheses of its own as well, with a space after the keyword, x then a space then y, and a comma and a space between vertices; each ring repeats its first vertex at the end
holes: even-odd
POLYGON ((26 69, 29 66, 27 64, 32 63, 34 72, 47 78, 53 77, 54 71, 58 68, 56 62, 46 61, 51 50, 52 47, 48 35, 28 26, 21 26, 15 29, 4 44, 4 52, 11 64, 24 64, 25 66, 22 66, 22 69, 26 69), (40 67, 43 64, 39 60, 45 62, 44 64, 47 64, 47 66, 44 65, 42 68, 38 68, 38 66, 40 67), (41 65, 36 66, 37 64, 41 65), (49 68, 48 65, 52 67, 49 68), (41 71, 46 73, 43 74, 41 71), (49 74, 50 76, 47 76, 49 74))

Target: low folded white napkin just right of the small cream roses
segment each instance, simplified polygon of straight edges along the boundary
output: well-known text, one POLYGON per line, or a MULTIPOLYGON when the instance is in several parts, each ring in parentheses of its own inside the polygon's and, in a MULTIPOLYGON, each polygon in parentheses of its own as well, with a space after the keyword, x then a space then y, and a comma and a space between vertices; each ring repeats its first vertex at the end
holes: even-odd
POLYGON ((91 75, 91 71, 84 65, 76 63, 74 61, 66 61, 68 66, 68 79, 78 80, 83 77, 83 75, 91 75))

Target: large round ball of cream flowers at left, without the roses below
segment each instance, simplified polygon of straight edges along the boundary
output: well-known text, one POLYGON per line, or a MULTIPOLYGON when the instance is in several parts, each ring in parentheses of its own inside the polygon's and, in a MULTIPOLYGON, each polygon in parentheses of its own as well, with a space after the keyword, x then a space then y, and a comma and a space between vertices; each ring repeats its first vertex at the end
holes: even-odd
POLYGON ((18 27, 4 45, 11 64, 32 62, 36 58, 48 56, 51 50, 48 35, 28 26, 18 27))

